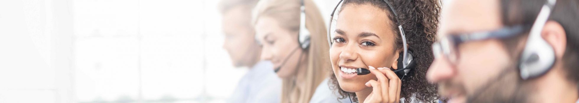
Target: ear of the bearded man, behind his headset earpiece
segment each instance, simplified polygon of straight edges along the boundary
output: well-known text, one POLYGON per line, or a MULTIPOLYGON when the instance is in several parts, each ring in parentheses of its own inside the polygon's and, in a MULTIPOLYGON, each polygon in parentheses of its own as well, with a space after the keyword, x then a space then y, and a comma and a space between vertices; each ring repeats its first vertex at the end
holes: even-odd
POLYGON ((557 21, 549 20, 543 27, 541 37, 543 37, 543 39, 553 47, 556 59, 561 59, 563 54, 565 54, 565 49, 567 47, 566 34, 567 33, 565 33, 563 26, 557 21))

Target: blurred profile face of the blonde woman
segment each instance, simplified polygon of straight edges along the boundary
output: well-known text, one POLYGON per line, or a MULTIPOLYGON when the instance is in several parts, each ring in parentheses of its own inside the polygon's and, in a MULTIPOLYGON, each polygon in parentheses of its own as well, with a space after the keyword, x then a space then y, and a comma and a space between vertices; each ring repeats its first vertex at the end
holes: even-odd
POLYGON ((277 76, 288 78, 295 75, 299 56, 303 52, 299 48, 298 32, 283 28, 277 20, 264 16, 256 22, 255 33, 257 40, 263 46, 261 59, 270 60, 274 70, 279 68, 277 76), (293 51, 295 52, 292 54, 293 51))

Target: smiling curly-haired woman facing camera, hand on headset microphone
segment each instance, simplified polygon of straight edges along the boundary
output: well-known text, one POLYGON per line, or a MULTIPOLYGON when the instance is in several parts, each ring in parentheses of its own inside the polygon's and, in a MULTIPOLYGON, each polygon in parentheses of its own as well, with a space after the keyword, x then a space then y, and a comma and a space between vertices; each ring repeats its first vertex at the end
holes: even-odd
POLYGON ((437 90, 425 75, 433 60, 429 46, 437 29, 438 1, 389 3, 345 0, 337 8, 329 50, 334 71, 331 82, 341 98, 350 97, 353 101, 437 102, 437 90), (394 70, 401 69, 399 60, 405 51, 401 32, 413 52, 416 67, 397 75, 394 70), (357 68, 369 68, 371 74, 358 75, 357 68))

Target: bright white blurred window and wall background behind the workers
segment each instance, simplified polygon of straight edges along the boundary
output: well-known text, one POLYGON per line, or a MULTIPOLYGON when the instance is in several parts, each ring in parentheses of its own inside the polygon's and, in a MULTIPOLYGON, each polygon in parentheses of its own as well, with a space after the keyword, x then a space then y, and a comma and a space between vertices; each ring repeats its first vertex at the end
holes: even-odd
MULTIPOLYGON (((315 0, 325 21, 338 0, 315 0)), ((225 102, 219 0, 0 1, 0 103, 225 102)))

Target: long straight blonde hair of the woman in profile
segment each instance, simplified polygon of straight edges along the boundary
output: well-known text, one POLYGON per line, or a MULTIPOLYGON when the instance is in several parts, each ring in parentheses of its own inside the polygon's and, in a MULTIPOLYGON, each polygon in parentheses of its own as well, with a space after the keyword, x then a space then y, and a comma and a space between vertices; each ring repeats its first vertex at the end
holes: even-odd
MULTIPOLYGON (((272 17, 280 22, 282 28, 297 32, 299 30, 300 6, 300 0, 262 0, 255 6, 252 22, 255 24, 260 17, 272 17)), ((320 83, 331 74, 324 20, 313 1, 304 0, 304 6, 306 28, 311 34, 311 44, 306 51, 308 62, 306 72, 302 75, 295 75, 295 77, 305 77, 305 81, 296 81, 295 77, 282 78, 281 102, 309 102, 317 86, 328 85, 320 83), (296 82, 301 82, 301 85, 296 85, 296 82)))

